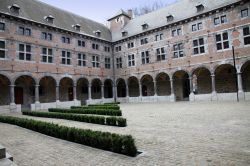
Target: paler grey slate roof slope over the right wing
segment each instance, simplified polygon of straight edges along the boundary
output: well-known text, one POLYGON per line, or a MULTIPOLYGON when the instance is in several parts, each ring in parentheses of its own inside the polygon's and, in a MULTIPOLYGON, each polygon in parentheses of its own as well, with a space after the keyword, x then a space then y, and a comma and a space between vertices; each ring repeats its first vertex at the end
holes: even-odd
POLYGON ((179 0, 154 12, 136 17, 130 20, 122 29, 112 31, 112 41, 121 40, 123 31, 128 32, 126 37, 142 33, 142 25, 145 23, 148 24, 147 30, 167 25, 169 24, 166 19, 168 15, 174 17, 173 22, 193 17, 199 14, 196 9, 199 4, 203 4, 205 7, 202 12, 207 12, 238 1, 240 0, 179 0))

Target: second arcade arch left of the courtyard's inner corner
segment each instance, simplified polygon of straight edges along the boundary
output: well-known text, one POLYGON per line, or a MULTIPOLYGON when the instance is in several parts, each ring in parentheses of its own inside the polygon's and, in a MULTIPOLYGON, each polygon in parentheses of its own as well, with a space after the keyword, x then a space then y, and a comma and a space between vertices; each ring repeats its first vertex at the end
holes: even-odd
POLYGON ((102 81, 99 78, 94 78, 91 81, 91 97, 92 99, 101 99, 102 93, 102 81))

